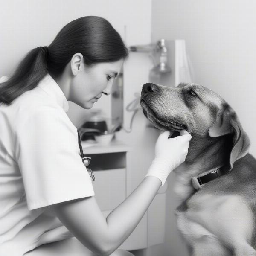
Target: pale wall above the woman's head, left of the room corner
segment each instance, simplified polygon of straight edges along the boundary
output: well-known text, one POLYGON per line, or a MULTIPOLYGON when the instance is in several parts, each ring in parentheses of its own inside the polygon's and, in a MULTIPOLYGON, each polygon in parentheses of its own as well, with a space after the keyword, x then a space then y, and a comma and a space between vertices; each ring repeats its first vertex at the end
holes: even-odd
POLYGON ((10 74, 33 47, 49 45, 68 22, 87 15, 105 17, 127 45, 151 40, 150 0, 1 0, 0 4, 0 75, 10 74))

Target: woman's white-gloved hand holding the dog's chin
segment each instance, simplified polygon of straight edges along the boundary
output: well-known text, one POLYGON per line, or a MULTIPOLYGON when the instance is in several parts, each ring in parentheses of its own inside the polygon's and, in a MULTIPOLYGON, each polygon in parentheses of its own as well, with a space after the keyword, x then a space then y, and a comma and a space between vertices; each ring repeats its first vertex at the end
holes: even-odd
POLYGON ((186 130, 181 130, 180 136, 168 139, 170 134, 170 131, 165 131, 158 137, 155 158, 146 174, 159 178, 162 186, 170 172, 185 161, 191 140, 191 135, 186 130))

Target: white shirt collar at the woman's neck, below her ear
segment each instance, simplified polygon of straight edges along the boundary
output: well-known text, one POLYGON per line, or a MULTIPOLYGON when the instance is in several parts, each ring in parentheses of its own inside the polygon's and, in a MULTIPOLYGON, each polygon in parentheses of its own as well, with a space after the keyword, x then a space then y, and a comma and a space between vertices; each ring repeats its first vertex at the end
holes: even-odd
POLYGON ((69 106, 67 98, 49 73, 41 79, 38 83, 38 87, 44 90, 48 95, 52 96, 65 112, 68 111, 69 106))

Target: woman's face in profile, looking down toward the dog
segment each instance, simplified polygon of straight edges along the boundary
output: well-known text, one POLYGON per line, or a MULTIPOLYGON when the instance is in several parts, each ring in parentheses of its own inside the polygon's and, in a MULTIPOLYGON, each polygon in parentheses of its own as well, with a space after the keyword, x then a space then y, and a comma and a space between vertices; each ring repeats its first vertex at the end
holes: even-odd
POLYGON ((77 66, 77 74, 71 81, 69 100, 82 108, 92 108, 102 93, 111 94, 113 79, 119 74, 123 62, 121 59, 87 67, 81 61, 77 66))

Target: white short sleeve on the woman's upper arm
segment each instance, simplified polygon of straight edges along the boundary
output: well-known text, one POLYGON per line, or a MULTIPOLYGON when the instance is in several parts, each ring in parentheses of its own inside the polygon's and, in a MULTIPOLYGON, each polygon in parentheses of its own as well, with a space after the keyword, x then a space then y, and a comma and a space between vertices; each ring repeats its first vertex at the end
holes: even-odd
POLYGON ((29 210, 94 195, 72 125, 62 109, 44 106, 17 127, 16 157, 29 210))

